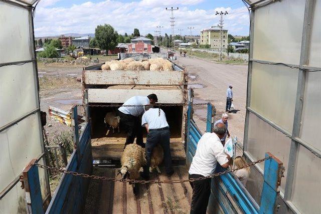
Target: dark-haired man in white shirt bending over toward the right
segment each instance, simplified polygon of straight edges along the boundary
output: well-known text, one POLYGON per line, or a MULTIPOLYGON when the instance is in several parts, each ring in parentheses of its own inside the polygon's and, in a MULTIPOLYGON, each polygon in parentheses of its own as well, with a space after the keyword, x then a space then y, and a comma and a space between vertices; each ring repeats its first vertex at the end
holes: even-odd
POLYGON ((154 104, 157 102, 155 94, 149 94, 147 97, 134 96, 129 98, 123 106, 118 108, 120 123, 124 126, 127 132, 125 146, 133 143, 136 137, 136 144, 145 147, 142 140, 142 128, 140 126, 140 115, 144 112, 145 105, 154 104), (140 105, 140 106, 126 106, 140 105))

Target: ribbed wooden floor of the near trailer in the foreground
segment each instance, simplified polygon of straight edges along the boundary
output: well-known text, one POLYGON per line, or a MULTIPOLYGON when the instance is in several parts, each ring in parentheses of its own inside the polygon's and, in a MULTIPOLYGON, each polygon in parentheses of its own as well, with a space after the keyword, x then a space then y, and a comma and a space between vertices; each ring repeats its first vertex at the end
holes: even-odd
MULTIPOLYGON (((187 179, 186 166, 174 167, 168 177, 165 168, 161 174, 153 172, 150 179, 187 179)), ((118 169, 94 168, 93 174, 115 177, 118 169)), ((119 175, 118 175, 119 176, 119 175)), ((120 176, 119 176, 120 177, 120 176)), ((137 193, 129 183, 91 180, 84 213, 188 213, 191 207, 190 183, 137 183, 137 193)))

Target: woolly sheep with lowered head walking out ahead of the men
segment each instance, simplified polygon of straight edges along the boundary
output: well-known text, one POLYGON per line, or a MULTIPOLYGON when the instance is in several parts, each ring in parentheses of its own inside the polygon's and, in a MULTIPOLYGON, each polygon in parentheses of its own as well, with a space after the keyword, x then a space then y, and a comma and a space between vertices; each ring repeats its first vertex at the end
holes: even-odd
MULTIPOLYGON (((144 148, 131 143, 126 145, 120 158, 121 168, 118 174, 121 174, 122 179, 135 180, 139 178, 139 169, 146 165, 144 148)), ((118 175, 117 174, 117 175, 118 175)), ((117 176, 116 175, 116 176, 117 176)), ((135 183, 132 183, 134 194, 136 193, 135 183)))

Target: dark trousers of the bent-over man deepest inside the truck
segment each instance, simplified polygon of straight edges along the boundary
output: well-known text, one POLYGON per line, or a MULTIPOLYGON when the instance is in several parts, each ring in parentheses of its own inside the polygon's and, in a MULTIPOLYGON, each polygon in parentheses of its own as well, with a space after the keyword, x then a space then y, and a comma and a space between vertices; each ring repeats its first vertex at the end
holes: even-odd
POLYGON ((124 114, 121 111, 118 111, 120 122, 125 128, 127 133, 125 146, 133 143, 136 137, 136 144, 141 147, 145 147, 145 144, 142 140, 142 127, 140 124, 140 118, 132 116, 130 114, 124 114))

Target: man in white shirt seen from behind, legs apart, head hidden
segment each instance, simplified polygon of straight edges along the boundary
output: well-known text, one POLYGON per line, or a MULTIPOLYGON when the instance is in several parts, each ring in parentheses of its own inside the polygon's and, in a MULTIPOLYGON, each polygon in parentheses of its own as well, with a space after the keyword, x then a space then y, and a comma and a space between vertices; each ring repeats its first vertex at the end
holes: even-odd
POLYGON ((170 149, 170 126, 167 123, 165 112, 159 108, 145 107, 146 111, 141 117, 141 126, 147 131, 147 139, 145 145, 146 165, 141 176, 149 179, 149 165, 153 148, 159 143, 164 150, 164 161, 167 175, 172 175, 174 169, 172 167, 172 157, 170 149))

